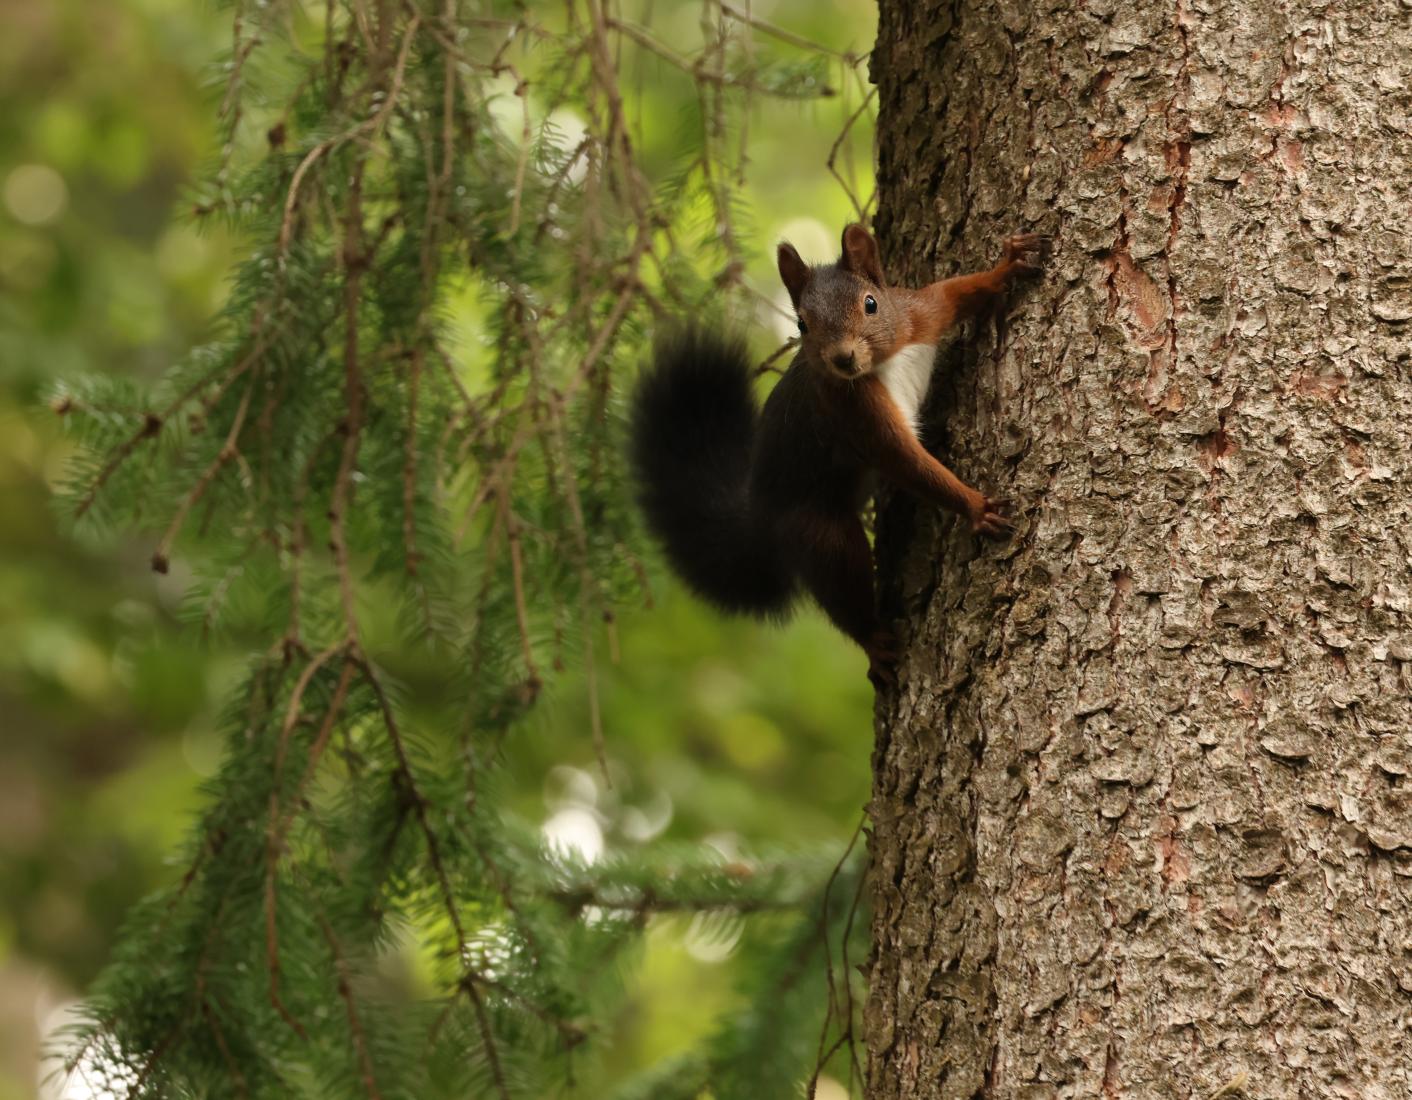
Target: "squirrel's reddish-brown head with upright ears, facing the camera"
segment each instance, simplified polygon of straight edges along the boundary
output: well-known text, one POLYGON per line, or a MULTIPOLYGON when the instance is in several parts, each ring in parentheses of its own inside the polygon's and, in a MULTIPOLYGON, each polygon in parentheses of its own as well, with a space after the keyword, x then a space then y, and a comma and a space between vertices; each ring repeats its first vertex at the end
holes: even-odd
POLYGON ((860 225, 843 230, 836 264, 810 267, 779 246, 779 278, 799 315, 799 345, 832 374, 858 378, 897 343, 898 312, 882 278, 878 243, 860 225))

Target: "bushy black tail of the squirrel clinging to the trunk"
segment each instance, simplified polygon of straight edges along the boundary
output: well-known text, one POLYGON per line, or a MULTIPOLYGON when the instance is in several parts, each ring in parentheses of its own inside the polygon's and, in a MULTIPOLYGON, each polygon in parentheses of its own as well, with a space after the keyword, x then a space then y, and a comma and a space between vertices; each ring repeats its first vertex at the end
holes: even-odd
POLYGON ((699 326, 658 339, 633 400, 647 524, 698 596, 770 617, 788 610, 794 579, 747 498, 757 419, 743 340, 699 326))

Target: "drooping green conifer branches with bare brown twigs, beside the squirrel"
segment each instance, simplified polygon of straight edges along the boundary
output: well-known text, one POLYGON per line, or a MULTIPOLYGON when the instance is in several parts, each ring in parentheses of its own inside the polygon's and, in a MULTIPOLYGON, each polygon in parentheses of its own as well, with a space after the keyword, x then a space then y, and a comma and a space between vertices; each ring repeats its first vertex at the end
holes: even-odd
POLYGON ((857 59, 746 48, 791 35, 727 3, 690 56, 604 0, 232 14, 192 205, 247 250, 213 339, 154 390, 56 407, 64 507, 151 532, 152 568, 193 576, 192 630, 258 645, 185 870, 131 914, 69 1070, 119 1097, 578 1094, 642 929, 693 914, 741 923, 751 988, 618 1096, 856 1076, 856 854, 586 863, 507 812, 498 768, 645 585, 614 378, 655 319, 753 305, 750 99, 826 95, 857 59), (626 52, 698 90, 700 154, 658 178, 626 52), (459 674, 419 679, 432 657, 459 674))

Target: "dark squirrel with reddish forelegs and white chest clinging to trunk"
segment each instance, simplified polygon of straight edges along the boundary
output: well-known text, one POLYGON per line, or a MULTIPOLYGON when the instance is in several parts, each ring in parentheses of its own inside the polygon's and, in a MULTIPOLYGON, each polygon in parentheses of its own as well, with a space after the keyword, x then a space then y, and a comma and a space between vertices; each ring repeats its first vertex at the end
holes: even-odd
POLYGON ((633 465, 651 531, 686 585, 722 610, 782 617, 802 585, 891 679, 895 640, 878 617, 858 513, 871 474, 964 515, 991 538, 1004 501, 971 489, 918 441, 936 345, 1041 270, 1048 240, 1008 237, 990 271, 888 287, 878 246, 843 230, 837 263, 809 265, 786 243, 779 277, 799 352, 757 409, 746 345, 702 325, 658 339, 638 383, 633 465))

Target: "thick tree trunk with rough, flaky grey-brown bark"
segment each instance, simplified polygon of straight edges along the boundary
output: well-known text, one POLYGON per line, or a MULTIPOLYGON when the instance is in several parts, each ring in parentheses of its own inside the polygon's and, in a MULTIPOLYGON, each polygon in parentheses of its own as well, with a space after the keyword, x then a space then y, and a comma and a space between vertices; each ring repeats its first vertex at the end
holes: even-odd
POLYGON ((1409 8, 881 6, 891 277, 1055 254, 933 387, 1015 538, 880 518, 870 1100, 1412 1096, 1409 8))

